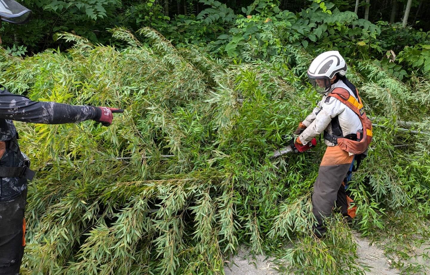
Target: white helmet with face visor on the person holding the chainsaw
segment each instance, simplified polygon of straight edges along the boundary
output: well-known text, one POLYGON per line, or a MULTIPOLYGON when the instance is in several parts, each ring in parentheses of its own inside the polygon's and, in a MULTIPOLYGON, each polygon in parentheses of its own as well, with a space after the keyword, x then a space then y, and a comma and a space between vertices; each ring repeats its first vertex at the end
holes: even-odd
POLYGON ((332 79, 336 73, 344 76, 346 72, 347 64, 342 55, 338 51, 329 51, 323 52, 312 61, 307 70, 307 76, 316 91, 325 94, 332 89, 330 79, 332 79), (316 79, 321 79, 323 81, 317 81, 316 79), (318 89, 318 87, 323 88, 323 91, 318 89))

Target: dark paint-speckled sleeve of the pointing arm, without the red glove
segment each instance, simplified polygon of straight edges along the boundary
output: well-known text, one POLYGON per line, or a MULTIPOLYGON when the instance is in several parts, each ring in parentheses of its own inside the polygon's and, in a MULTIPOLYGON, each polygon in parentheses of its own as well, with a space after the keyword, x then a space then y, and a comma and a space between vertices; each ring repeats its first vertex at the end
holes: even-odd
POLYGON ((63 124, 95 117, 95 108, 56 102, 31 101, 22 95, 0 91, 0 118, 22 122, 63 124))

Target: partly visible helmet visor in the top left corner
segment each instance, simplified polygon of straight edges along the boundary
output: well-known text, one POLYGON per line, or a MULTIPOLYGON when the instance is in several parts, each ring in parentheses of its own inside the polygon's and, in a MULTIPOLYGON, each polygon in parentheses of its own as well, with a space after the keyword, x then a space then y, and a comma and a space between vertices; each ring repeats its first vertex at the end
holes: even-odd
POLYGON ((13 24, 24 24, 30 19, 31 10, 14 0, 0 0, 0 18, 13 24))

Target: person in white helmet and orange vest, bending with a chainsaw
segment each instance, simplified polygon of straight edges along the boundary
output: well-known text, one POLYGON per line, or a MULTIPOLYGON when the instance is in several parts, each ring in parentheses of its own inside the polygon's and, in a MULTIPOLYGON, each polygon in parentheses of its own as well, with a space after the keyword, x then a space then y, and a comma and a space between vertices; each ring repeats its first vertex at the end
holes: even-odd
POLYGON ((348 219, 355 207, 345 193, 354 159, 359 164, 372 140, 372 122, 366 117, 358 91, 345 77, 347 65, 338 51, 324 52, 310 64, 307 75, 316 91, 323 95, 318 106, 300 122, 295 134, 299 144, 307 144, 324 133, 326 153, 313 187, 312 207, 315 234, 326 228, 323 220, 334 206, 348 219))

